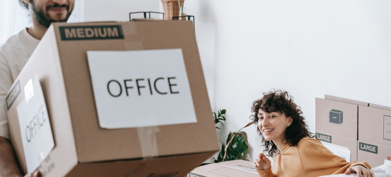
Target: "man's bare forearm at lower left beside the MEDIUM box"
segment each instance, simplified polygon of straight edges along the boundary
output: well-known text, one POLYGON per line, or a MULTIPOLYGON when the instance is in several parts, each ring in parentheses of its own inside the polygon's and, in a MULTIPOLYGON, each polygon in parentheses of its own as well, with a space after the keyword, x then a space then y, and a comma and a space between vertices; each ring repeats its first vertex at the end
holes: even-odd
POLYGON ((11 141, 0 137, 0 176, 22 176, 11 141))

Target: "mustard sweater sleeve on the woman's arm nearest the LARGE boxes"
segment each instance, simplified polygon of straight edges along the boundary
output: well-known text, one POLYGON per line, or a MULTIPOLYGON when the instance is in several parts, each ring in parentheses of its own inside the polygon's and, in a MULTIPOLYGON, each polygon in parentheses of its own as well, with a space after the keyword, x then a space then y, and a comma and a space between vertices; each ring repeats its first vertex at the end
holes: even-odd
POLYGON ((354 165, 371 168, 367 162, 346 162, 316 139, 305 138, 304 140, 299 146, 299 155, 306 176, 341 174, 354 165))

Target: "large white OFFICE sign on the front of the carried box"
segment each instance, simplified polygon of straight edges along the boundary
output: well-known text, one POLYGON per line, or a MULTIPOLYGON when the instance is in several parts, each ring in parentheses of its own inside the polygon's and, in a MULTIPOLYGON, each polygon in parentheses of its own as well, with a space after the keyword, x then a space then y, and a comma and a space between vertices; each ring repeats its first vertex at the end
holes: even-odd
POLYGON ((181 49, 87 56, 102 128, 197 122, 181 49))

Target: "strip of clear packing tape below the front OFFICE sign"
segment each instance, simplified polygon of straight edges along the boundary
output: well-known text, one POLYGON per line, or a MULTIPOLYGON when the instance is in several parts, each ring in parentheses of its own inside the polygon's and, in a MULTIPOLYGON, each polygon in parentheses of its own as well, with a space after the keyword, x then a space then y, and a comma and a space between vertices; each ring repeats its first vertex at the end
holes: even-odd
POLYGON ((144 159, 151 159, 158 155, 156 133, 159 132, 157 126, 138 127, 141 155, 144 159))

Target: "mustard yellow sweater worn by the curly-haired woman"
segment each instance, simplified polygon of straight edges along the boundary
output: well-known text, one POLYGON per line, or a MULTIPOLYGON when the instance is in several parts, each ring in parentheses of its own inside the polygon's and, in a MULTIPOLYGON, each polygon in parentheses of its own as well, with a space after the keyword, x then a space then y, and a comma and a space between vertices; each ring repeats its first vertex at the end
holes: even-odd
POLYGON ((298 146, 286 144, 273 162, 273 169, 258 170, 261 177, 321 176, 344 173, 354 165, 371 168, 367 162, 346 162, 313 138, 303 138, 298 146))

